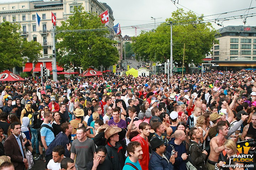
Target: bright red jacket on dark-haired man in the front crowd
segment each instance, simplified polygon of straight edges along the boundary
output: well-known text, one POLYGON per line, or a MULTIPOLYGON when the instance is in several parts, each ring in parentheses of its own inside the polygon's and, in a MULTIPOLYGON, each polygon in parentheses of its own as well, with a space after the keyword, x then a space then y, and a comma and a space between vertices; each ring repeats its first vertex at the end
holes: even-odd
POLYGON ((149 144, 148 144, 148 139, 146 138, 146 140, 144 138, 142 138, 139 135, 135 136, 132 138, 131 141, 138 141, 140 142, 140 145, 142 147, 142 159, 139 159, 139 164, 142 167, 142 170, 148 170, 148 166, 149 166, 149 144))

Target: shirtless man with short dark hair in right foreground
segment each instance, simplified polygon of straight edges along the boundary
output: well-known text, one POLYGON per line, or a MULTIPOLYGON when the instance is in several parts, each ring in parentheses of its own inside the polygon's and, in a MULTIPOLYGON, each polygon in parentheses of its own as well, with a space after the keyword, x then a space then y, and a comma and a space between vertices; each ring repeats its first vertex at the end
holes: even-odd
POLYGON ((208 170, 215 170, 215 163, 218 163, 219 154, 225 149, 223 144, 226 141, 225 136, 228 135, 226 122, 219 121, 216 130, 218 135, 210 140, 210 155, 206 163, 208 170))

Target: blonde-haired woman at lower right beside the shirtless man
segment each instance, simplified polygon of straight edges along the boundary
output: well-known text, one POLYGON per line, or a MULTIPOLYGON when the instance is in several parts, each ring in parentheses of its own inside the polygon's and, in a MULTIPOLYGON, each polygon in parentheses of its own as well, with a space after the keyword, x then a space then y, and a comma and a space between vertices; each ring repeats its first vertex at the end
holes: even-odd
POLYGON ((225 170, 225 168, 223 168, 222 165, 229 163, 229 160, 234 158, 233 155, 239 155, 239 152, 236 149, 235 141, 231 139, 226 140, 223 146, 224 146, 224 151, 220 152, 219 160, 218 160, 219 163, 217 163, 217 166, 218 168, 222 168, 225 170))

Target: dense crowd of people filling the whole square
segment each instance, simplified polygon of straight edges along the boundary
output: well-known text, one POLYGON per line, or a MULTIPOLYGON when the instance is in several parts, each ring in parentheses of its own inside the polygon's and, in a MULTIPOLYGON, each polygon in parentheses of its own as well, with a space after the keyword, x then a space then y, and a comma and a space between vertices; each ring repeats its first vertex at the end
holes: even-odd
POLYGON ((1 82, 0 170, 253 170, 255 76, 1 82))

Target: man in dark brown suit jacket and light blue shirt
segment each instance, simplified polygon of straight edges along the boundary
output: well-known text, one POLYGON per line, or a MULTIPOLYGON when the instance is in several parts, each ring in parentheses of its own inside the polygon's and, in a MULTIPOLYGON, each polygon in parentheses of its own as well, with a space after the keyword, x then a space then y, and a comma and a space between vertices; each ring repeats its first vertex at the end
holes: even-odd
POLYGON ((26 159, 23 149, 21 134, 21 125, 14 122, 10 125, 12 134, 7 137, 4 148, 5 155, 11 157, 11 162, 14 164, 15 170, 24 170, 28 168, 28 160, 26 159))

